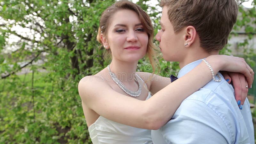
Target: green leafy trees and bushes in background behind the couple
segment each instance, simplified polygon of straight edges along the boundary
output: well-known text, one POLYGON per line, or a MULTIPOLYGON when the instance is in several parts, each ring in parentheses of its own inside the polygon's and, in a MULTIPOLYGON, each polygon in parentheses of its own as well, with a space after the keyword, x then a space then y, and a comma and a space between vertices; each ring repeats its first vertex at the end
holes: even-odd
MULTIPOLYGON (((150 14, 156 35, 160 12, 148 1, 139 0, 138 4, 150 14)), ((0 79, 0 143, 91 143, 77 84, 82 77, 108 65, 96 35, 100 14, 113 3, 114 0, 0 2, 0 74, 4 74, 0 79), (12 36, 16 37, 11 43, 12 36), (18 74, 25 68, 30 73, 18 74)), ((242 16, 234 29, 246 27, 251 38, 255 33, 255 27, 250 25, 255 24, 255 7, 248 12, 240 5, 239 11, 242 16)), ((239 46, 247 47, 248 41, 239 46)), ((221 51, 230 52, 228 46, 221 51)), ((253 63, 253 52, 247 49, 244 53, 246 60, 253 63)), ((177 62, 162 58, 159 62, 159 75, 177 75, 177 62)), ((138 66, 138 71, 152 72, 147 58, 141 59, 138 66)))

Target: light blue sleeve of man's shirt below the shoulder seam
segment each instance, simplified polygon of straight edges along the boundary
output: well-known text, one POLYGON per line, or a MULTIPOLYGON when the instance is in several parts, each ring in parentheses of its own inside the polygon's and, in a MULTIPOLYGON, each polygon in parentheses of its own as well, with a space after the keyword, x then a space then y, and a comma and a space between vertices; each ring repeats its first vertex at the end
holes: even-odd
POLYGON ((160 132, 168 144, 229 144, 229 132, 220 117, 202 101, 184 100, 160 132))

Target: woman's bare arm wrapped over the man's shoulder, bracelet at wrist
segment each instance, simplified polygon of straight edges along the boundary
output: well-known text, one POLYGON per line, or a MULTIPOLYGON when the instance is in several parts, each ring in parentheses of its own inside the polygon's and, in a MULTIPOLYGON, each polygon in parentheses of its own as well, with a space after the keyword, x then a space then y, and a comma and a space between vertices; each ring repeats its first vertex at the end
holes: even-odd
MULTIPOLYGON (((210 56, 206 60, 215 74, 219 70, 240 72, 252 80, 249 76, 251 68, 243 59, 218 55, 210 56)), ((90 78, 91 81, 82 79, 78 85, 79 95, 87 107, 109 120, 156 130, 171 119, 182 100, 208 83, 212 74, 205 63, 201 62, 188 74, 146 101, 124 96, 115 92, 108 84, 98 81, 96 77, 90 78)))

